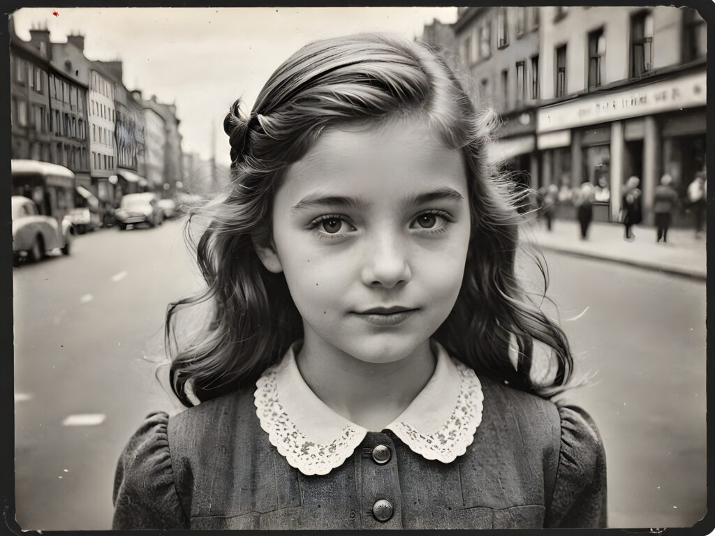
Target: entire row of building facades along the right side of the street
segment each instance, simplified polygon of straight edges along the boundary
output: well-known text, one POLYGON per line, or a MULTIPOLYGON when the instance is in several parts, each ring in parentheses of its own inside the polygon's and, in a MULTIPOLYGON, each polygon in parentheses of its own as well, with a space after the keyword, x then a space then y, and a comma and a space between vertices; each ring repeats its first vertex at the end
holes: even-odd
POLYGON ((594 217, 616 221, 636 175, 651 223, 663 174, 684 198, 704 171, 706 24, 696 10, 470 7, 453 29, 465 86, 503 120, 490 159, 518 182, 556 184, 565 207, 591 182, 594 217))

